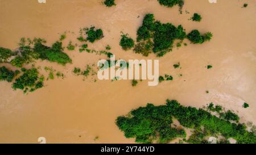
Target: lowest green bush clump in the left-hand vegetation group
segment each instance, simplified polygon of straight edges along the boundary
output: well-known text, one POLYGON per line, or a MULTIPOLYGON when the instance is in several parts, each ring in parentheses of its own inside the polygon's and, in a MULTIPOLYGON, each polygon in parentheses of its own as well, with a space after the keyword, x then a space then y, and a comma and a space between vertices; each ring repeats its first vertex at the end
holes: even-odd
POLYGON ((39 73, 36 68, 32 69, 24 69, 22 68, 22 76, 15 79, 13 83, 13 89, 23 90, 24 93, 35 91, 36 89, 40 89, 43 87, 43 81, 39 78, 39 73))

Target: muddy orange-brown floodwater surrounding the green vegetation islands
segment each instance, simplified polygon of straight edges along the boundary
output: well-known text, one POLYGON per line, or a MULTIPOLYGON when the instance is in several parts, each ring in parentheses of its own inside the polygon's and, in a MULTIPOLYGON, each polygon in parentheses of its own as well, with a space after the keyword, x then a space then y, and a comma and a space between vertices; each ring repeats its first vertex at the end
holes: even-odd
POLYGON ((182 15, 177 6, 166 8, 156 0, 116 3, 108 8, 96 0, 0 0, 0 47, 15 49, 21 37, 42 37, 51 45, 64 32, 67 46, 69 40, 76 43, 81 27, 93 25, 105 37, 89 44, 90 48, 102 50, 109 44, 116 58, 159 59, 160 74, 171 74, 174 81, 154 87, 147 86, 147 81, 136 87, 131 81, 93 82, 90 77, 83 81, 72 74, 73 68, 106 57, 80 53, 78 48, 65 50, 73 64, 36 63, 60 70, 64 79, 46 81, 45 87, 27 95, 11 89, 11 83, 0 82, 0 143, 38 143, 39 137, 46 137, 47 143, 134 143, 115 125, 117 116, 147 103, 164 104, 166 99, 195 107, 213 102, 236 111, 242 122, 256 124, 256 1, 185 0, 182 15), (248 7, 241 8, 243 3, 248 7), (202 15, 201 22, 188 20, 194 12, 202 15), (161 58, 123 51, 121 31, 135 39, 147 13, 164 23, 182 24, 187 32, 195 28, 210 31, 213 39, 201 45, 184 40, 187 47, 174 48, 161 58), (177 62, 181 69, 172 66, 177 62), (207 65, 213 68, 208 70, 207 65), (242 108, 244 102, 250 107, 242 108))

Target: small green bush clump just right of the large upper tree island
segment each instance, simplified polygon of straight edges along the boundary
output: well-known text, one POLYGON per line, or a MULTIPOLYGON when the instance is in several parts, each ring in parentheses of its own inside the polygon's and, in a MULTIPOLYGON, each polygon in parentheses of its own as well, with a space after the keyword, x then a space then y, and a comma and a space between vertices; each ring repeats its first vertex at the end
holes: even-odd
POLYGON ((193 44, 203 44, 205 41, 210 41, 212 39, 212 33, 207 32, 203 36, 201 36, 201 33, 198 30, 191 31, 187 38, 190 40, 193 44))

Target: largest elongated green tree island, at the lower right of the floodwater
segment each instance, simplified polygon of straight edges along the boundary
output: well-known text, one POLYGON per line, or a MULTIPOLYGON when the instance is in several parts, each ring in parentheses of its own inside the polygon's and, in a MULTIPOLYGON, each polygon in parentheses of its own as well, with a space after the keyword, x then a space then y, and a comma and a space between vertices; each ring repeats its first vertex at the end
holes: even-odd
POLYGON ((135 138, 137 143, 170 143, 179 137, 187 143, 208 143, 209 136, 222 136, 221 141, 233 138, 240 144, 256 143, 255 133, 247 131, 245 124, 218 118, 202 108, 181 106, 176 100, 167 100, 163 106, 139 107, 128 116, 119 116, 115 123, 125 137, 135 138), (171 127, 173 118, 183 127, 171 127), (184 128, 193 129, 188 140, 184 128))

